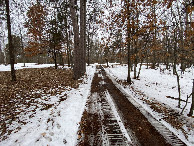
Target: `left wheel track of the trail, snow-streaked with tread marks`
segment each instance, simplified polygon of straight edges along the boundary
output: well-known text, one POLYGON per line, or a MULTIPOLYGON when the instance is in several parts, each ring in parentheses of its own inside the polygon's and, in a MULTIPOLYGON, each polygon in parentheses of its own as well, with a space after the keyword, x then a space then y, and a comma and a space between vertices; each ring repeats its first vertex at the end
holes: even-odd
POLYGON ((118 122, 118 117, 108 101, 105 85, 99 71, 94 76, 92 93, 82 117, 80 131, 83 134, 78 145, 131 145, 129 136, 123 133, 124 126, 121 129, 121 121, 118 122))

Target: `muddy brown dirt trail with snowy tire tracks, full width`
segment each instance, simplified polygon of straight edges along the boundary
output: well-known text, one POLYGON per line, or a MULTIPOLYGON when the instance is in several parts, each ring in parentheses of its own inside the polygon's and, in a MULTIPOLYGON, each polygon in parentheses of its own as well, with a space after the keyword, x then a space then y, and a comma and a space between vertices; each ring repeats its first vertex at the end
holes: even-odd
POLYGON ((186 145, 97 67, 80 122, 78 145, 186 145))

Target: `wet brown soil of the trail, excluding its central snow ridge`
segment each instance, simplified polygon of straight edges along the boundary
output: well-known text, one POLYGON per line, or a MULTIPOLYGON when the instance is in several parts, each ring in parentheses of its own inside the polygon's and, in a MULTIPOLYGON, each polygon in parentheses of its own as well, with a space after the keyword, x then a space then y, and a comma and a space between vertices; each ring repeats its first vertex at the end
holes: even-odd
POLYGON ((126 96, 106 76, 103 68, 99 66, 97 71, 92 82, 91 96, 88 99, 87 108, 81 120, 78 145, 170 145, 148 119, 129 102, 126 96), (106 103, 104 96, 106 91, 111 95, 131 141, 126 140, 118 126, 118 121, 113 117, 113 120, 110 120, 111 109, 107 109, 108 106, 103 107, 103 104, 106 103), (101 112, 103 116, 99 114, 101 112), (119 137, 116 137, 116 135, 119 135, 119 137), (113 136, 114 141, 110 138, 111 136, 113 136))

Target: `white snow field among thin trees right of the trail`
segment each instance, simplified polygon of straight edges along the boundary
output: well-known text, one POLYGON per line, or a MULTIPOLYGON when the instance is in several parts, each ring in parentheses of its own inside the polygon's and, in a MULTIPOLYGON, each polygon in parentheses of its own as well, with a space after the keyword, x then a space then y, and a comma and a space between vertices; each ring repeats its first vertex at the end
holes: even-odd
MULTIPOLYGON (((115 66, 114 68, 107 69, 111 75, 120 79, 127 79, 127 66, 115 66)), ((133 77, 133 72, 131 73, 133 77)), ((180 78, 180 86, 181 86, 181 98, 186 100, 187 95, 192 93, 192 79, 194 76, 193 69, 187 69, 185 74, 181 75, 180 78)), ((142 71, 140 74, 140 80, 134 80, 133 87, 137 90, 141 90, 142 93, 146 94, 152 100, 157 100, 162 103, 166 103, 169 106, 173 106, 174 109, 178 109, 178 101, 170 98, 166 98, 166 96, 171 96, 178 98, 178 87, 177 87, 177 79, 175 75, 172 75, 171 72, 165 71, 161 73, 160 70, 146 69, 146 66, 142 66, 142 71)), ((185 109, 184 114, 188 114, 191 105, 191 98, 189 99, 188 106, 185 109)), ((182 106, 184 104, 182 103, 182 106)))

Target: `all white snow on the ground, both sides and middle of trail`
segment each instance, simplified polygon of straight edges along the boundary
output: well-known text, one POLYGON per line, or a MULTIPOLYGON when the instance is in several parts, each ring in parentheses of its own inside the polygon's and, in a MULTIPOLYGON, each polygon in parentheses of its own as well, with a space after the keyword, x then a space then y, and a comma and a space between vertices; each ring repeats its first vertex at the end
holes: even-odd
MULTIPOLYGON (((17 121, 13 122, 9 127, 10 130, 13 130, 12 133, 7 139, 1 141, 0 145, 76 145, 79 122, 81 121, 81 116, 85 108, 87 97, 90 94, 91 82, 94 73, 96 72, 96 65, 98 64, 87 67, 87 72, 83 79, 83 83, 79 85, 78 89, 67 87, 67 90, 61 95, 50 97, 43 96, 41 99, 38 99, 41 103, 53 104, 51 108, 41 110, 42 106, 38 105, 38 108, 35 108, 36 105, 34 105, 34 107, 31 106, 30 108, 26 109, 24 108, 25 105, 18 105, 24 110, 24 112, 19 115, 19 120, 26 124, 22 124, 17 121), (64 95, 67 95, 67 99, 60 101, 60 97, 64 95), (45 101, 44 98, 47 98, 47 100, 45 101), (33 111, 33 109, 36 110, 33 111), (30 115, 33 115, 33 117, 29 118, 30 115)), ((127 79, 127 65, 121 66, 116 63, 109 65, 110 68, 105 68, 105 70, 111 76, 111 78, 114 80, 119 79, 123 81, 127 79)), ((15 69, 43 68, 50 66, 54 65, 37 65, 35 63, 26 63, 26 67, 23 67, 23 63, 18 63, 15 65, 15 69)), ((143 65, 140 80, 132 79, 134 83, 131 85, 131 87, 133 87, 136 91, 143 93, 144 98, 147 100, 163 103, 163 105, 166 107, 170 107, 180 113, 182 109, 177 107, 178 101, 166 97, 171 96, 178 98, 176 76, 172 74, 172 71, 163 70, 164 68, 165 66, 161 65, 160 68, 153 70, 146 69, 146 66, 143 65)), ((10 71, 10 66, 0 65, 0 71, 10 71)), ((181 98, 186 100, 187 95, 190 95, 192 92, 194 69, 186 69, 185 73, 182 75, 179 70, 178 74, 180 75, 181 98)), ((131 76, 133 77, 133 72, 131 73, 131 76)), ((104 82, 101 82, 100 84, 104 84, 104 82)), ((135 92, 132 91, 128 86, 119 85, 119 87, 122 88, 122 90, 124 90, 128 95, 131 95, 137 103, 139 103, 153 117, 165 125, 170 131, 175 133, 177 137, 183 140, 187 145, 194 145, 194 119, 187 117, 191 106, 191 98, 189 99, 188 105, 182 115, 182 118, 184 119, 183 129, 188 136, 188 138, 186 138, 181 130, 173 128, 172 125, 163 120, 161 114, 153 111, 148 104, 143 102, 141 100, 141 95, 135 94, 135 92)), ((41 93, 40 91, 34 92, 41 93)), ((118 118, 117 120, 120 121, 110 95, 106 93, 106 96, 109 100, 111 108, 114 111, 114 114, 118 118)), ((184 105, 185 102, 181 102, 181 108, 183 108, 184 105)), ((130 139, 130 137, 126 134, 124 126, 122 123, 120 124, 122 127, 122 132, 125 133, 127 139, 130 139)))

